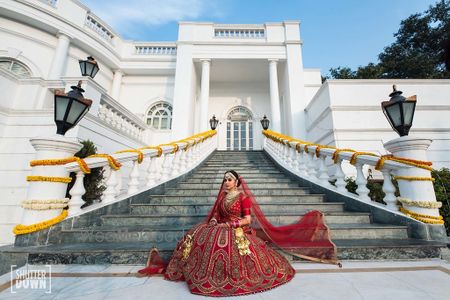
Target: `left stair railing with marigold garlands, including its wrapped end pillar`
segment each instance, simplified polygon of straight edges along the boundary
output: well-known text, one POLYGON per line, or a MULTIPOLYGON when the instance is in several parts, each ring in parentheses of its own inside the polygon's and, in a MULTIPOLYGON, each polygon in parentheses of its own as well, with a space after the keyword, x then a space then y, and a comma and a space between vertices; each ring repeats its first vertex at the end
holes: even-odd
MULTIPOLYGON (((14 227, 15 234, 25 234, 50 227, 67 216, 73 217, 121 201, 129 196, 168 182, 194 169, 217 149, 217 132, 205 131, 183 140, 126 149, 112 154, 96 154, 84 159, 77 157, 41 159, 30 162, 33 167, 27 193, 22 202, 22 223, 14 227), (128 173, 122 165, 131 164, 128 173), (101 202, 81 208, 85 202, 85 174, 95 168, 105 170, 106 190, 101 202), (76 173, 70 199, 65 198, 70 172, 76 173), (43 176, 57 175, 57 176, 43 176)), ((37 157, 42 157, 37 153, 37 157)), ((126 168, 125 168, 126 169, 126 168)))

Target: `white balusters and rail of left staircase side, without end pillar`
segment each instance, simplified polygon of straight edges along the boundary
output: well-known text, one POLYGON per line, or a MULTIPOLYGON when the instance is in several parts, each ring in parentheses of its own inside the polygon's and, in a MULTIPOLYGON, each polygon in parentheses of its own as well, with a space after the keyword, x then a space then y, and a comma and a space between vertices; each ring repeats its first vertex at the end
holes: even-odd
MULTIPOLYGON (((172 153, 173 146, 171 145, 160 146, 162 149, 162 155, 160 157, 158 157, 157 149, 143 148, 141 150, 143 162, 140 164, 138 163, 138 156, 135 152, 113 154, 112 157, 122 165, 131 163, 129 173, 124 173, 126 171, 123 170, 123 166, 119 170, 113 170, 109 166, 106 158, 86 158, 85 162, 91 169, 98 167, 106 169, 106 190, 103 192, 102 202, 92 206, 100 207, 113 203, 118 201, 118 199, 134 195, 186 173, 217 149, 217 135, 209 137, 203 142, 201 138, 195 137, 184 140, 183 142, 177 142, 177 145, 178 151, 175 153, 172 153), (122 185, 124 185, 123 189, 122 185)), ((82 196, 85 193, 83 186, 83 178, 85 175, 81 172, 76 162, 66 164, 65 169, 77 173, 77 180, 75 181, 74 187, 70 190, 72 198, 69 202, 69 215, 82 214, 84 211, 80 209, 80 206, 84 204, 82 196)))

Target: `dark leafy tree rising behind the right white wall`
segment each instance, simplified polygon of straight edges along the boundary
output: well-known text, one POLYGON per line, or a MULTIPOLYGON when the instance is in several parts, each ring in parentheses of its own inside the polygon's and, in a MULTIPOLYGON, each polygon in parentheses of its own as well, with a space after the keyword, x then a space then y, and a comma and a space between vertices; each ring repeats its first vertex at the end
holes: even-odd
POLYGON ((330 69, 335 79, 450 78, 450 0, 401 21, 396 40, 378 55, 377 64, 330 69))

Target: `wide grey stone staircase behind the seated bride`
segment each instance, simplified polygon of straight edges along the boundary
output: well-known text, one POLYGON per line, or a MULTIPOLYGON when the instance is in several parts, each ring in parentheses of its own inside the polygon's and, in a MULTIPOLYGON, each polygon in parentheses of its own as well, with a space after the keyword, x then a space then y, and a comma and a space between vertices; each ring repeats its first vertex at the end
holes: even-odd
POLYGON ((373 223, 370 213, 348 211, 344 203, 311 193, 263 151, 216 151, 164 193, 150 191, 145 197, 131 198, 126 207, 111 209, 90 225, 62 226, 47 245, 9 246, 3 252, 22 253, 29 263, 145 264, 149 249, 155 246, 168 259, 185 232, 206 217, 229 169, 245 178, 275 225, 295 222, 310 210, 322 211, 340 259, 440 256, 442 243, 408 238, 407 226, 373 223))

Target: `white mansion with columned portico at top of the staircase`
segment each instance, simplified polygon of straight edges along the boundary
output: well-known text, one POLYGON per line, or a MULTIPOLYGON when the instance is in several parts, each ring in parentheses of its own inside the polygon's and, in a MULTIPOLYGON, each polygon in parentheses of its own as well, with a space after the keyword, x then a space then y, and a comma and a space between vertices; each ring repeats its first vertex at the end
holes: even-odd
POLYGON ((55 134, 54 93, 80 79, 93 105, 66 136, 99 153, 182 139, 213 115, 219 150, 259 150, 266 115, 295 138, 384 154, 396 133, 380 103, 397 84, 418 98, 410 134, 433 140, 435 168, 450 167, 450 80, 322 83, 303 67, 299 25, 180 22, 177 41, 129 41, 77 0, 0 0, 0 244, 21 220, 29 140, 55 134), (89 55, 95 80, 80 76, 89 55))

